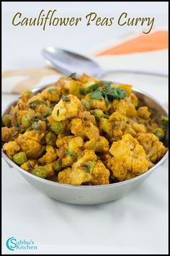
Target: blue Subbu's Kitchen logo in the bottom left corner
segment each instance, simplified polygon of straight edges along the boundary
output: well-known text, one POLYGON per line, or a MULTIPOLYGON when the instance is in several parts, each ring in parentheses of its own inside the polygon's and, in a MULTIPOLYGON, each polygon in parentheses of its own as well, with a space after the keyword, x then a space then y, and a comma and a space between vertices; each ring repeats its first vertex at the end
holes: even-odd
POLYGON ((37 245, 35 245, 35 242, 27 239, 16 239, 14 237, 9 237, 9 239, 6 240, 6 247, 10 249, 11 251, 14 251, 16 249, 37 249, 37 245))

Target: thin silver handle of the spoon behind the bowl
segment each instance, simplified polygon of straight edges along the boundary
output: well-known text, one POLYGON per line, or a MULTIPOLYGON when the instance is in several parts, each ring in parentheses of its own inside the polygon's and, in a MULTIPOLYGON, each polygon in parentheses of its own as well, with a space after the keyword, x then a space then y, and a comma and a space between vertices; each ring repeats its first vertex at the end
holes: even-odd
POLYGON ((159 77, 168 77, 169 74, 167 71, 164 70, 145 70, 145 69, 108 69, 108 70, 102 70, 98 74, 98 77, 103 77, 104 75, 107 74, 114 74, 114 73, 135 73, 135 74, 148 74, 148 75, 153 75, 153 76, 159 76, 159 77))

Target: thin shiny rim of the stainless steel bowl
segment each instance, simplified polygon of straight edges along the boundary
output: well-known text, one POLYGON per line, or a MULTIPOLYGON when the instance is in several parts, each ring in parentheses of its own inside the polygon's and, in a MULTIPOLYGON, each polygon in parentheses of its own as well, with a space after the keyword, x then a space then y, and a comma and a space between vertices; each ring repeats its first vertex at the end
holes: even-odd
MULTIPOLYGON (((31 91, 32 93, 37 93, 39 92, 40 90, 43 90, 45 88, 47 88, 48 86, 50 85, 53 85, 53 83, 51 84, 48 84, 48 85, 44 85, 42 87, 37 87, 37 88, 33 88, 31 91)), ((156 100, 155 98, 153 98, 153 96, 149 95, 148 93, 144 92, 143 90, 140 90, 138 88, 135 88, 133 87, 132 88, 132 91, 133 92, 136 92, 136 93, 141 93, 143 95, 146 95, 148 98, 151 98, 151 100, 155 101, 156 104, 158 106, 160 106, 165 112, 166 112, 166 115, 168 116, 168 109, 165 108, 164 105, 161 105, 161 103, 156 100)), ((10 106, 13 106, 14 103, 17 102, 19 97, 16 98, 16 100, 12 101, 11 103, 9 103, 5 108, 4 110, 2 111, 2 114, 1 116, 4 116, 4 113, 6 112, 6 110, 10 107, 10 106)), ((153 167, 151 167, 148 171, 146 171, 145 173, 143 174, 140 174, 138 176, 135 176, 134 178, 132 179, 128 179, 128 180, 125 180, 125 181, 122 181, 122 182, 116 182, 116 183, 111 183, 111 184, 104 184, 104 185, 95 185, 95 186, 83 186, 83 185, 79 185, 79 186, 76 186, 76 185, 71 185, 71 184, 61 184, 61 183, 58 183, 58 182, 53 182, 53 181, 50 181, 48 179, 43 179, 43 178, 40 178, 39 176, 36 176, 34 174, 30 174, 28 171, 25 171, 24 169, 22 169, 21 167, 19 167, 16 163, 14 163, 9 157, 8 155, 6 155, 6 153, 4 153, 4 150, 3 148, 1 148, 1 155, 2 157, 4 158, 4 161, 6 161, 6 163, 9 165, 10 168, 12 167, 15 167, 17 168, 17 170, 19 172, 21 172, 22 174, 25 174, 26 176, 28 177, 32 177, 32 179, 35 179, 39 182, 42 182, 42 183, 46 183, 46 184, 51 184, 53 186, 59 186, 59 187, 67 187, 68 189, 71 189, 71 188, 76 188, 76 189, 97 189, 97 188, 109 188, 109 187, 117 187, 117 186, 122 186, 123 184, 129 184, 129 183, 132 183, 132 182, 135 182, 137 181, 138 179, 142 179, 144 176, 147 176, 148 174, 151 174, 151 172, 153 172, 158 166, 160 165, 163 165, 163 163, 166 161, 166 159, 168 158, 168 155, 169 155, 169 149, 166 151, 166 154, 164 155, 163 158, 161 158, 158 163, 156 163, 153 167)))

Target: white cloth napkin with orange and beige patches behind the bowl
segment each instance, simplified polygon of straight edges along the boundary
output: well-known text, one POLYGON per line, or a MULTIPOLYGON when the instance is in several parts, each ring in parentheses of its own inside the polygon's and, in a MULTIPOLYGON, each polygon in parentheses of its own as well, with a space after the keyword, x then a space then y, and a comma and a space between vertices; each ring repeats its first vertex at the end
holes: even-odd
MULTIPOLYGON (((94 49, 91 56, 103 69, 168 70, 168 31, 130 35, 94 49)), ((7 70, 2 73, 3 93, 22 93, 55 82, 63 74, 53 67, 7 70)))

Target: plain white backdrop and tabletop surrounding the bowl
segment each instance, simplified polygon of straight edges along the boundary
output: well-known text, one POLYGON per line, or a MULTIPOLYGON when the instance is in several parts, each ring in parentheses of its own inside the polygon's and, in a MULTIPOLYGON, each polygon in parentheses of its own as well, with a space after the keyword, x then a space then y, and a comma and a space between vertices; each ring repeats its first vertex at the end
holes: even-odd
MULTIPOLYGON (((155 17, 156 27, 167 26, 165 2, 6 2, 2 9, 3 69, 22 69, 45 64, 40 51, 58 46, 93 51, 138 27, 14 27, 12 17, 22 12, 36 17, 40 9, 58 9, 58 16, 85 16, 97 12, 102 17, 155 17)), ((145 88, 147 91, 147 88, 145 88)), ((167 101, 164 80, 152 80, 148 91, 161 103, 167 101), (162 85, 161 97, 160 88, 162 85)), ((2 107, 16 95, 3 95, 2 107)), ((2 161, 3 253, 11 253, 5 242, 11 236, 32 239, 36 253, 167 254, 168 252, 168 171, 167 163, 158 168, 138 189, 104 205, 68 205, 45 197, 28 184, 14 168, 2 161)), ((17 253, 17 252, 12 252, 17 253)), ((26 253, 24 251, 20 253, 26 253)))

